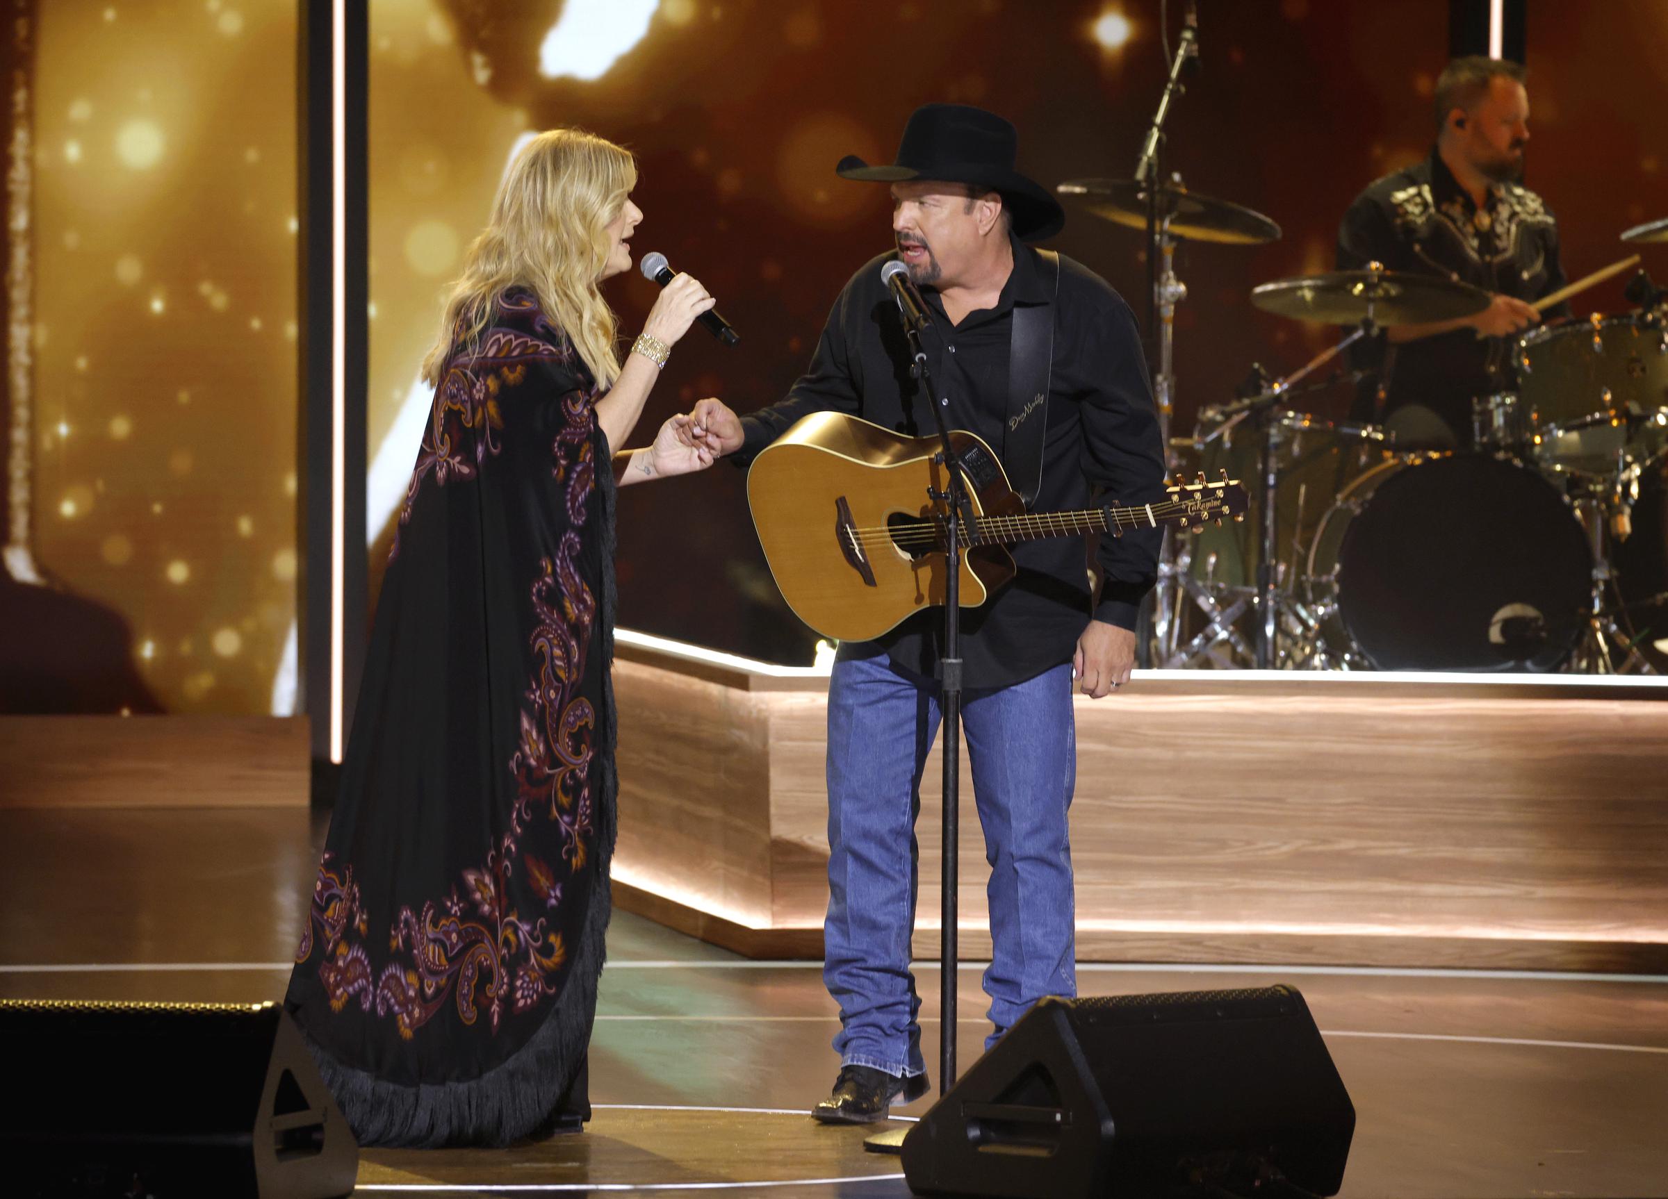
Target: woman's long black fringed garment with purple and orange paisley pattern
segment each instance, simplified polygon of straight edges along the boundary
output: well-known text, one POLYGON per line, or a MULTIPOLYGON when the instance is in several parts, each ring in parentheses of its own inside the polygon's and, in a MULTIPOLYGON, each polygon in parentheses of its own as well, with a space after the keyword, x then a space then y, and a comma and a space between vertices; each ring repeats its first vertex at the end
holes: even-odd
POLYGON ((507 292, 435 389, 287 1007, 360 1144, 589 1114, 614 850, 614 475, 507 292))

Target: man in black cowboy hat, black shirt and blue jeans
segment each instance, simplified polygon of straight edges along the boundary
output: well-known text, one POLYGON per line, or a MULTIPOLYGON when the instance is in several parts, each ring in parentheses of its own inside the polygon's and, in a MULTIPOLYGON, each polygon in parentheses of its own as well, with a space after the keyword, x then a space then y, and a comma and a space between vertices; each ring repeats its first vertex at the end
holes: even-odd
MULTIPOLYGON (((1158 417, 1129 305, 1098 275, 1027 242, 1064 225, 1054 197, 1014 168, 1014 127, 964 105, 909 118, 897 162, 844 158, 844 178, 892 188, 896 250, 864 263, 834 304, 811 369, 746 419, 692 414, 716 452, 747 464, 809 412, 836 409, 902 434, 934 432, 902 350, 881 267, 899 258, 931 309, 931 377, 952 427, 997 449, 1034 510, 1163 494, 1158 417)), ((1136 605, 1158 532, 1104 539, 1091 597, 1076 539, 1017 545, 1014 582, 962 617, 962 725, 991 864, 989 1046, 1042 996, 1076 994, 1066 809, 1076 770, 1073 679, 1094 699, 1129 680, 1136 605)), ((829 684, 829 909, 824 982, 839 1002, 834 1092, 819 1121, 884 1119, 927 1091, 909 937, 917 787, 939 724, 942 614, 842 644, 829 684)), ((946 1031, 949 1036, 952 1031, 946 1031)))

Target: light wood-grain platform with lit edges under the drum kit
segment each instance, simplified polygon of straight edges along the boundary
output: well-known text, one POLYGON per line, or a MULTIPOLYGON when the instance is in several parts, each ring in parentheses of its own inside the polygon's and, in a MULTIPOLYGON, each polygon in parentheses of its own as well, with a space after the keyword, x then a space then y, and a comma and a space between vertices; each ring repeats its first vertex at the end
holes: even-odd
MULTIPOLYGON (((622 907, 819 957, 826 672, 622 634, 622 907)), ((1079 961, 1668 969, 1668 685, 1138 672, 1079 697, 1079 961)), ((962 757, 961 947, 989 954, 962 757)), ((916 954, 937 954, 936 770, 916 954)))

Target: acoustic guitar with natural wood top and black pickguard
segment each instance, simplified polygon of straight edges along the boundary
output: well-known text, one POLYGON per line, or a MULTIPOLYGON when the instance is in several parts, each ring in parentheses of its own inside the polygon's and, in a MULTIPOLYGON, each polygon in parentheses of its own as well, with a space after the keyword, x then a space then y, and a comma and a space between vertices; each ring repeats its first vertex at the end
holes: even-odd
MULTIPOLYGON (((1153 504, 1026 512, 1001 460, 976 434, 951 432, 967 482, 961 607, 979 607, 1014 577, 1004 549, 1041 537, 1203 529, 1243 519, 1246 490, 1226 477, 1168 487, 1153 504)), ((869 640, 944 604, 946 489, 937 437, 904 437, 842 412, 812 412, 747 472, 747 507, 782 599, 824 637, 869 640)))

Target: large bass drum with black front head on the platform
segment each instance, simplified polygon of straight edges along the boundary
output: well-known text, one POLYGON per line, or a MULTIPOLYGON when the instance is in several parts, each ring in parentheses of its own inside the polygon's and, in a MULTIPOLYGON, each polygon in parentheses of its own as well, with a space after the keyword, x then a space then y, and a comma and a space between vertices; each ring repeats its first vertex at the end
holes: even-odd
POLYGON ((1368 472, 1309 550, 1321 634, 1379 670, 1556 670, 1590 585, 1586 534, 1563 495, 1480 454, 1368 472))

